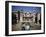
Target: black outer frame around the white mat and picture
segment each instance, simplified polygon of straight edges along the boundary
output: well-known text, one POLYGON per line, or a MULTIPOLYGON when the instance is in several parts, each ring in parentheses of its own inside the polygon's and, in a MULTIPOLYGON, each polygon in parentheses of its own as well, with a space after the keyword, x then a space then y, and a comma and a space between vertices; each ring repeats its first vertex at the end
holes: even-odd
POLYGON ((18 35, 34 35, 45 34, 45 3, 37 2, 22 2, 22 1, 5 1, 5 36, 18 36, 18 35), (27 33, 27 34, 12 34, 9 35, 9 3, 28 3, 28 4, 42 4, 44 5, 44 32, 43 33, 27 33))

